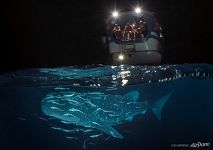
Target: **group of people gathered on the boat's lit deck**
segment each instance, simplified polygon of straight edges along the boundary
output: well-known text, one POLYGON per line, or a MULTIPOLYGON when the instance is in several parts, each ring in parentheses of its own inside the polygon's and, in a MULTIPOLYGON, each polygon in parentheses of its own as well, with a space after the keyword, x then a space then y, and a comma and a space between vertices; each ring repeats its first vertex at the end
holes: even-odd
POLYGON ((147 23, 141 19, 137 22, 127 22, 125 25, 115 24, 112 34, 117 40, 130 41, 144 38, 147 31, 147 23))

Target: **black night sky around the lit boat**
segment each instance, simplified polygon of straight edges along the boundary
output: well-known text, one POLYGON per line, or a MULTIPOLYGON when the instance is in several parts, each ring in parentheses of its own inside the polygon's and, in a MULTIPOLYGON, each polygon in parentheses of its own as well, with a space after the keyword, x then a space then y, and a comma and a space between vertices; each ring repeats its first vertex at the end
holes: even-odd
MULTIPOLYGON (((140 3, 159 16, 165 36, 165 63, 213 63, 210 0, 140 3)), ((135 4, 117 0, 120 10, 135 4)), ((104 17, 113 6, 113 0, 8 0, 2 5, 1 70, 107 64, 108 54, 100 37, 104 17)))

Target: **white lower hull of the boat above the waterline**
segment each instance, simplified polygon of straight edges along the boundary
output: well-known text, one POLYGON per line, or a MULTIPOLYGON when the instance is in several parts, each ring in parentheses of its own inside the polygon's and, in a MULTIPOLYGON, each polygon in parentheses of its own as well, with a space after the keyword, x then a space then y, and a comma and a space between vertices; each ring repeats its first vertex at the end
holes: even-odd
POLYGON ((112 54, 114 64, 160 64, 162 61, 161 44, 159 40, 154 38, 144 40, 142 43, 135 43, 135 46, 126 45, 126 49, 130 50, 122 51, 122 49, 122 44, 117 44, 115 42, 109 43, 109 50, 112 54), (124 55, 122 61, 119 59, 121 53, 124 55))

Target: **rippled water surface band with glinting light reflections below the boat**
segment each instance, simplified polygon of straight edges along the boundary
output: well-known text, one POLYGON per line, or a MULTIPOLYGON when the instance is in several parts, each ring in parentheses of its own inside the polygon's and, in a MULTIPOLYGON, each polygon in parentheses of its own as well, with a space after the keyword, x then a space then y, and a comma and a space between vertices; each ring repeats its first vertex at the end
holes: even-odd
POLYGON ((98 66, 61 67, 20 70, 0 75, 0 86, 54 86, 73 85, 127 86, 140 83, 167 82, 187 77, 212 77, 213 67, 208 64, 161 66, 98 66))

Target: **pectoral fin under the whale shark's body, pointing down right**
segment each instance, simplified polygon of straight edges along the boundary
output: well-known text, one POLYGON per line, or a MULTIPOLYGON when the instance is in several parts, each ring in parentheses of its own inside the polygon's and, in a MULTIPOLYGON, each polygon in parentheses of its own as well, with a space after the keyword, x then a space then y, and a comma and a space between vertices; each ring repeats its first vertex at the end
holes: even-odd
POLYGON ((118 133, 118 131, 116 131, 114 128, 112 128, 110 126, 110 124, 95 121, 95 122, 92 122, 92 126, 96 129, 101 130, 102 132, 105 132, 106 134, 109 134, 109 135, 115 137, 115 138, 120 138, 120 139, 123 138, 123 136, 120 133, 118 133))

